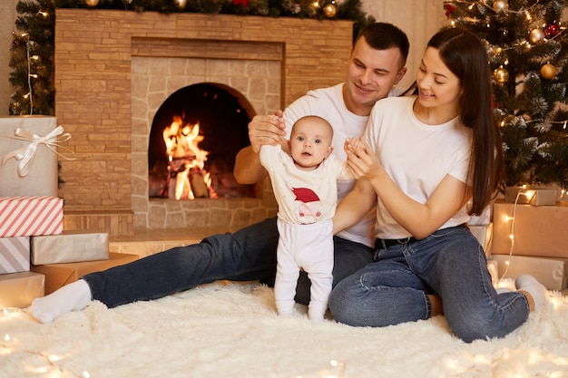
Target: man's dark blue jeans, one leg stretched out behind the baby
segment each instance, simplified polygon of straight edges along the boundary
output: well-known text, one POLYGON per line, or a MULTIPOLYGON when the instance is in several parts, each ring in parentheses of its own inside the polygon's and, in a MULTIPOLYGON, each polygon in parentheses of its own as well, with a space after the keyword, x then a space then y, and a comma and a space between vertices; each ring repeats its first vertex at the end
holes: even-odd
MULTIPOLYGON (((156 299, 220 279, 260 280, 273 286, 278 238, 276 218, 268 218, 233 234, 206 237, 199 244, 171 248, 83 279, 93 299, 108 307, 156 299)), ((340 237, 334 242, 334 285, 373 261, 372 248, 340 237)), ((297 293, 296 300, 307 305, 305 274, 300 275, 297 293)))

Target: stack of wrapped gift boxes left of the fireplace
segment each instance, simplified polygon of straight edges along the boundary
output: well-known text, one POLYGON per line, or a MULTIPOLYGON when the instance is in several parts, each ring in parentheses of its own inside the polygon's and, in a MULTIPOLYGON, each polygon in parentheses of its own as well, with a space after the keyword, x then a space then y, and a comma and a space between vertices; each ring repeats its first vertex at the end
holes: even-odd
POLYGON ((57 197, 60 141, 54 117, 0 118, 0 307, 26 307, 84 274, 124 264, 108 234, 64 232, 57 197))

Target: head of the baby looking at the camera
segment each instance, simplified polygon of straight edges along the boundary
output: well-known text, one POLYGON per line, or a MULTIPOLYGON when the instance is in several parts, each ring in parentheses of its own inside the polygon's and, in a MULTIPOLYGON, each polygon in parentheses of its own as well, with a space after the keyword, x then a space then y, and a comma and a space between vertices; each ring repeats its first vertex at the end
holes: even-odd
POLYGON ((299 120, 290 136, 290 153, 301 168, 317 168, 331 150, 333 132, 321 120, 299 120))

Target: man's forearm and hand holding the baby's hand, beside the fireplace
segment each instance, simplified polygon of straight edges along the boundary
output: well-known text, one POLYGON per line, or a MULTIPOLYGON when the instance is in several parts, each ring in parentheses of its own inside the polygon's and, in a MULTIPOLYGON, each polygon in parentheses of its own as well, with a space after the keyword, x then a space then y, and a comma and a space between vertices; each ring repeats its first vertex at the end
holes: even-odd
POLYGON ((277 145, 286 135, 282 111, 276 111, 276 117, 255 115, 249 123, 250 146, 240 150, 235 160, 233 174, 240 184, 254 184, 268 176, 259 159, 260 146, 277 145))

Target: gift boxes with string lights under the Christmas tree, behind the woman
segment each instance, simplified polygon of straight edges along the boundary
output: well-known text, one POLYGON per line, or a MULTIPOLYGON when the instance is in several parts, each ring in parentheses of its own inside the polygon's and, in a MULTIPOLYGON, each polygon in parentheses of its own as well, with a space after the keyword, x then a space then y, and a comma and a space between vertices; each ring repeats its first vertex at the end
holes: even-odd
POLYGON ((530 274, 547 289, 563 291, 567 286, 568 204, 556 202, 548 192, 538 194, 527 201, 515 197, 514 202, 495 202, 491 260, 500 278, 530 274))

